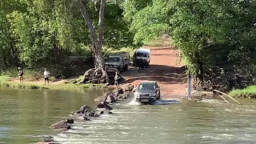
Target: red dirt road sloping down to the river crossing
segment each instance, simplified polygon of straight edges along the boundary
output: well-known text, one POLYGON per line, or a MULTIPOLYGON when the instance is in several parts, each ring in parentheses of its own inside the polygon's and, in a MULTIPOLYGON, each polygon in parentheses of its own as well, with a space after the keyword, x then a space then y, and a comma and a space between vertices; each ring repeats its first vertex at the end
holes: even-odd
POLYGON ((180 62, 178 51, 172 48, 150 48, 150 68, 138 73, 138 69, 130 67, 123 72, 126 83, 138 86, 142 81, 156 81, 160 86, 162 98, 182 98, 186 96, 186 84, 178 76, 185 68, 180 62))

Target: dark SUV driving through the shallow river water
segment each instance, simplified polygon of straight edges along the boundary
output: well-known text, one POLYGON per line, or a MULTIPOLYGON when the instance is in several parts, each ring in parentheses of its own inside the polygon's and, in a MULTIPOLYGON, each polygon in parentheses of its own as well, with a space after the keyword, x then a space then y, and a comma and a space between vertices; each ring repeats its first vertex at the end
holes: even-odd
POLYGON ((141 82, 134 92, 137 102, 150 103, 160 98, 160 87, 157 82, 141 82))

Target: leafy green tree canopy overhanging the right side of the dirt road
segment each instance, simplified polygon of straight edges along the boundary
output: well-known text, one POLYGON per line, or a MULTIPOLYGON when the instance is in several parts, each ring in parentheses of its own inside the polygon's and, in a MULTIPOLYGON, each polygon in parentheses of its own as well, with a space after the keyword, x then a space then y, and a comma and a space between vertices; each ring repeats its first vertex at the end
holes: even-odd
POLYGON ((124 16, 134 42, 170 34, 195 74, 255 71, 254 0, 129 0, 124 16))

